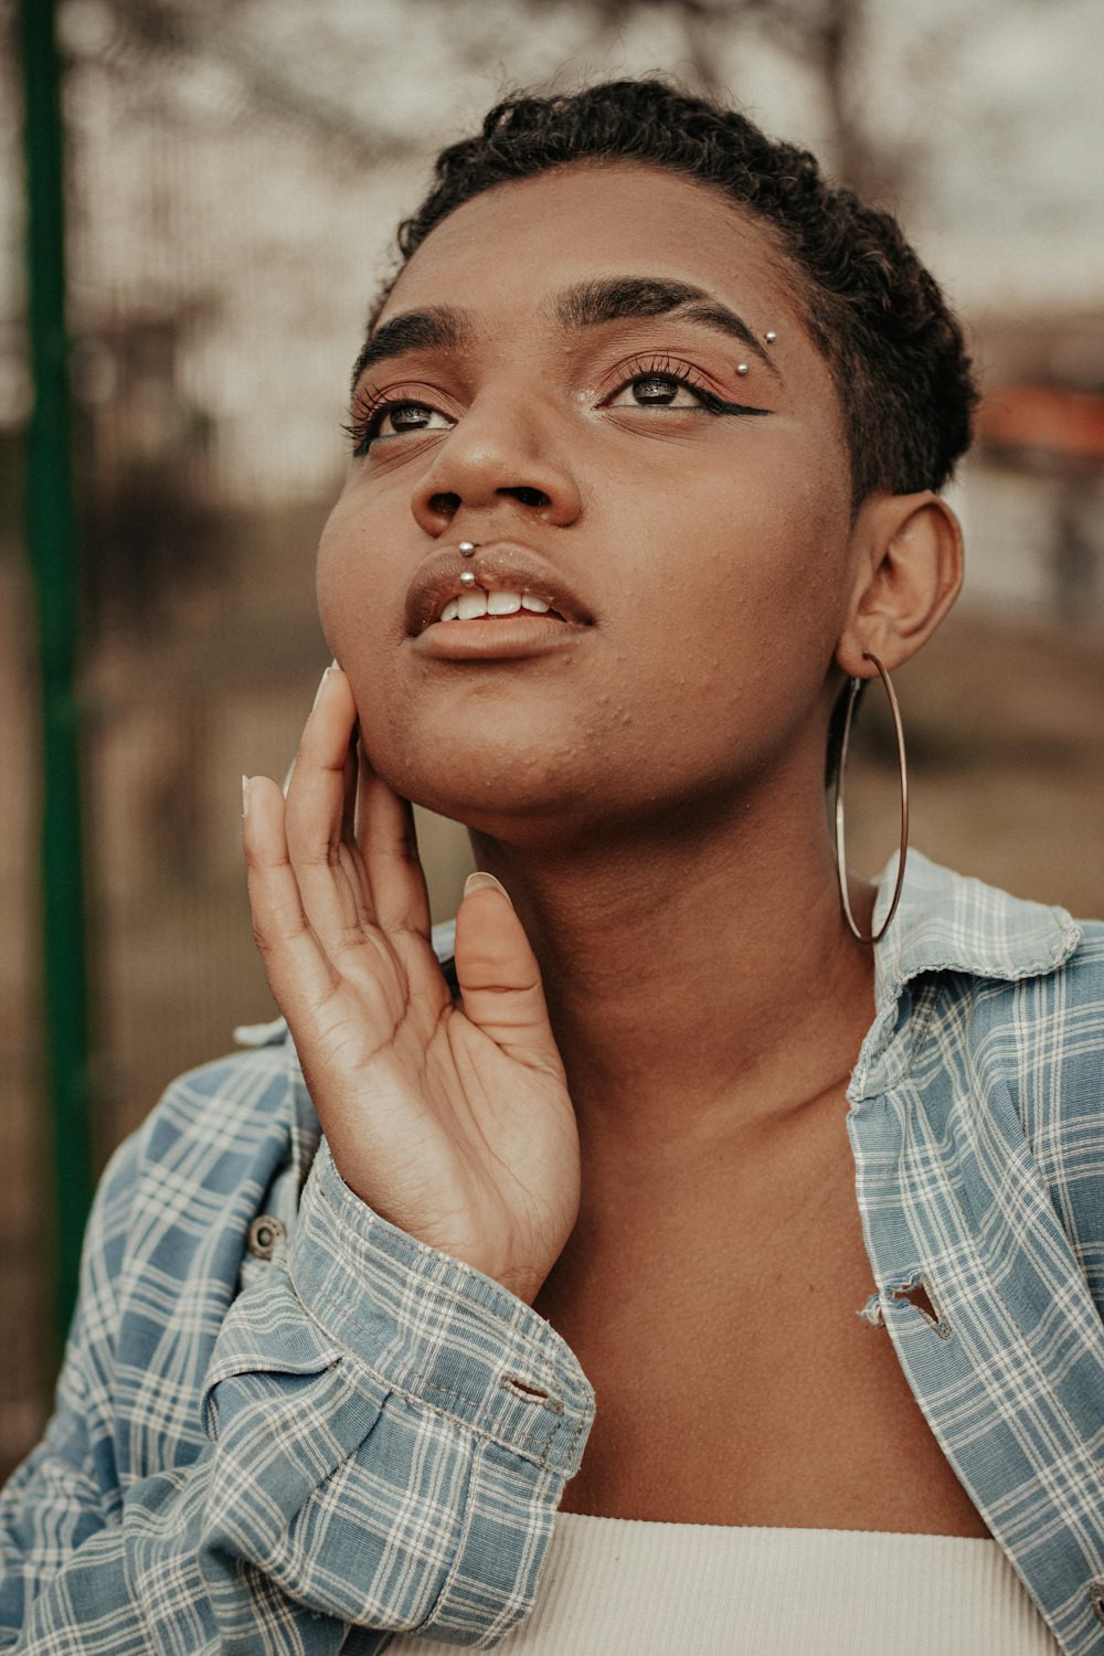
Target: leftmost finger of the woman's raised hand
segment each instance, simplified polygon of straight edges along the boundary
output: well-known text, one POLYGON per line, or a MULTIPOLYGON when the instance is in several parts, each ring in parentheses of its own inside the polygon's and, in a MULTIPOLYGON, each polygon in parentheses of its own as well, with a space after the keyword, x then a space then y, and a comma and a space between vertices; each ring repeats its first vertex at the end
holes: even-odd
POLYGON ((245 783, 247 883, 253 936, 280 1010, 291 1018, 303 1004, 321 1002, 334 977, 311 932, 288 856, 283 793, 268 777, 245 783))

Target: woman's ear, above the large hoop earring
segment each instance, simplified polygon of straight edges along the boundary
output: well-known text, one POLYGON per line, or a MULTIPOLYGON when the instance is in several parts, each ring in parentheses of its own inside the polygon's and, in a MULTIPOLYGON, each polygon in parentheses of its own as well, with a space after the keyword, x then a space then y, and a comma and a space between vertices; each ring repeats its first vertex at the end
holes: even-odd
POLYGON ((962 530, 950 507, 924 490, 872 495, 859 508, 857 558, 847 623, 836 662, 849 677, 869 679, 877 656, 899 667, 943 619, 962 586, 962 530))

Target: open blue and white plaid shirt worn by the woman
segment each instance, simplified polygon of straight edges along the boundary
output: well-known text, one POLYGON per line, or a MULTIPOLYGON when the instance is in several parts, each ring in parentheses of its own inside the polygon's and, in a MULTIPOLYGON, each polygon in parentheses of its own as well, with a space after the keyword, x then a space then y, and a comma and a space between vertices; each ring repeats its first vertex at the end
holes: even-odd
MULTIPOLYGON (((1104 1656, 1104 929, 914 856, 877 967, 864 1315, 1061 1648, 1104 1656)), ((3 1649, 490 1646, 533 1603, 591 1389, 356 1201, 276 1040, 177 1081, 104 1176, 58 1411, 0 1507, 3 1649)))

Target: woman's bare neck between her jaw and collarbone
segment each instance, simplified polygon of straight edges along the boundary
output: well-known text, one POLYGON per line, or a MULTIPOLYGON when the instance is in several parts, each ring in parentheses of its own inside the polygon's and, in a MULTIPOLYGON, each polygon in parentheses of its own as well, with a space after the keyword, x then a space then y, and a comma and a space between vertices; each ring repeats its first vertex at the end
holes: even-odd
POLYGON ((819 788, 563 856, 473 845, 541 964, 584 1143, 662 1154, 689 1111, 712 1141, 854 1065, 872 952, 842 921, 819 788))

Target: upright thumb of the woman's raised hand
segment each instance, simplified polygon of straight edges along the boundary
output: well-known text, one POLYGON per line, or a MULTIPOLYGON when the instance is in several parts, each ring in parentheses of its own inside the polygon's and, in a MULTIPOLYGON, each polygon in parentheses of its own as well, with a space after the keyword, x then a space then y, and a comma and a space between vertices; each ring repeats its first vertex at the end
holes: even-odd
POLYGON ((545 1005, 541 969, 505 886, 468 874, 457 912, 454 964, 463 1015, 525 1063, 561 1070, 545 1005))

